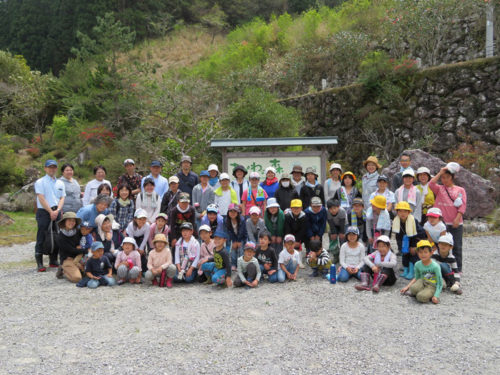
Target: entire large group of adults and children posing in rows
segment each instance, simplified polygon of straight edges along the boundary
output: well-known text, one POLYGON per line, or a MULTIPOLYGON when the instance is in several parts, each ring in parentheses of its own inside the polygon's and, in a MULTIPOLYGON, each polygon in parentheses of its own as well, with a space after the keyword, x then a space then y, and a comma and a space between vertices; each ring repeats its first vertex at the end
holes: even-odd
POLYGON ((157 160, 142 177, 126 159, 115 188, 97 166, 82 195, 73 166, 64 164, 57 179, 57 162, 47 160, 46 175, 35 183, 37 268, 46 270, 47 228, 57 223, 49 266, 82 287, 198 280, 253 288, 264 279, 295 280, 307 263, 311 277, 354 277, 357 290, 378 292, 395 284, 401 255, 400 276, 410 280, 401 292, 437 303, 443 288, 462 293, 467 195, 454 183, 457 163, 435 176, 410 165, 403 153, 389 181, 370 156, 357 183, 333 163, 322 185, 315 168, 304 172, 300 165, 280 176, 273 167, 260 176, 238 165, 231 178, 215 164, 197 175, 183 156, 180 171, 167 179, 157 160))

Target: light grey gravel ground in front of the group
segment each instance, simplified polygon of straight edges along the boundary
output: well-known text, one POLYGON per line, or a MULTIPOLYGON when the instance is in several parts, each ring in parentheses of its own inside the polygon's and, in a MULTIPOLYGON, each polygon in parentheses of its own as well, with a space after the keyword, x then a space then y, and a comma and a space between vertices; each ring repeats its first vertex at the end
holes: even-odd
POLYGON ((464 241, 464 294, 439 305, 308 269, 255 290, 79 289, 34 272, 33 244, 0 248, 0 373, 497 374, 499 240, 464 241))

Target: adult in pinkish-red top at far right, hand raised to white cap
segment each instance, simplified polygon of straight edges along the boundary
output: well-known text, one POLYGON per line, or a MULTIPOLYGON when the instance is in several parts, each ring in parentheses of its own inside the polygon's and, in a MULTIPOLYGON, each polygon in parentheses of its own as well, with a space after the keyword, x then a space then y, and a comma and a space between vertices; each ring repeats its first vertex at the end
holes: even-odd
POLYGON ((467 208, 467 193, 455 185, 456 174, 460 171, 457 163, 448 163, 429 182, 436 201, 434 207, 441 210, 446 229, 453 236, 453 255, 457 259, 458 271, 462 272, 462 237, 464 234, 464 213, 467 208), (441 181, 442 185, 438 185, 441 181))

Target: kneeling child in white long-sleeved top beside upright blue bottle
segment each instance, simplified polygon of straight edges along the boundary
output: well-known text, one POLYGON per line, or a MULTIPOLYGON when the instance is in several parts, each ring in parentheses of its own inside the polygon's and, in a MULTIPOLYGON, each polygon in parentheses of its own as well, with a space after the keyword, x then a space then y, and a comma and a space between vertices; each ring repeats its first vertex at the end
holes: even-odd
POLYGON ((351 277, 361 278, 361 267, 364 265, 365 247, 359 240, 358 227, 348 227, 345 235, 347 242, 340 248, 340 272, 337 280, 345 283, 351 277))

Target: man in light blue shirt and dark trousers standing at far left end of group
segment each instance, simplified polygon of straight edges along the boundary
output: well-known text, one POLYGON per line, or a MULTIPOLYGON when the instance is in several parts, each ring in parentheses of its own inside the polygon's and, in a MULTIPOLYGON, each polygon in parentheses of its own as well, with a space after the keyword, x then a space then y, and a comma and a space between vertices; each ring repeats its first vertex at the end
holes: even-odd
MULTIPOLYGON (((44 166, 45 176, 39 178, 35 182, 36 194, 36 245, 35 245, 35 259, 38 272, 45 272, 46 268, 43 266, 43 243, 47 229, 51 222, 59 219, 64 205, 64 198, 66 192, 64 190, 64 183, 56 178, 57 162, 49 159, 45 162, 44 166)), ((53 251, 49 257, 50 267, 59 267, 57 263, 57 251, 53 251)))

